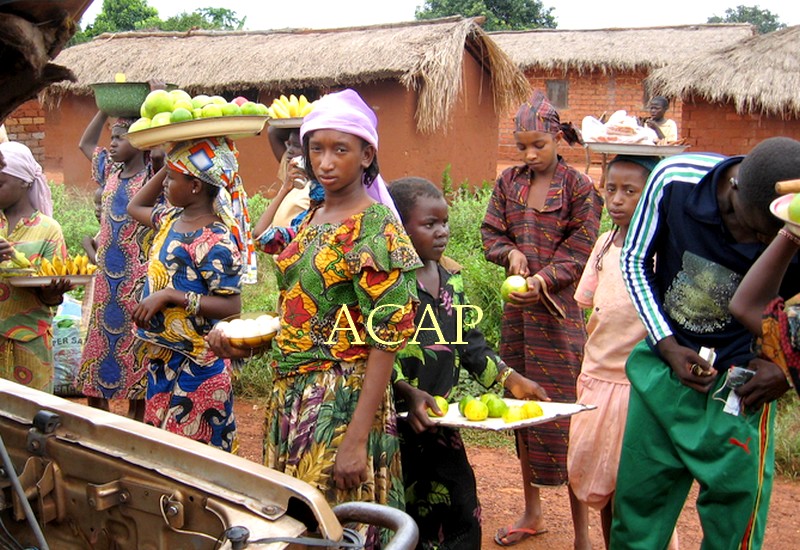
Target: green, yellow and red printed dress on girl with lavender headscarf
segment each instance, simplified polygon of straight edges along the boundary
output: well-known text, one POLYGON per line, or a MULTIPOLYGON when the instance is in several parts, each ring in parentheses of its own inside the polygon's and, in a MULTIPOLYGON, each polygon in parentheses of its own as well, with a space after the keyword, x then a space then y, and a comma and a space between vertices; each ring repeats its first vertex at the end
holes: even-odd
MULTIPOLYGON (((397 351, 414 330, 421 264, 391 211, 370 205, 343 223, 313 212, 277 259, 281 331, 266 423, 265 464, 319 489, 327 501, 403 508, 397 420, 387 385, 367 443, 373 465, 359 487, 333 483, 338 444, 352 418, 370 350, 397 351), (367 327, 368 319, 369 327, 367 327), (368 330, 369 328, 369 330, 368 330), (351 330, 352 329, 352 330, 351 330)), ((275 239, 258 243, 268 254, 275 239)), ((367 534, 377 542, 377 530, 367 534)))

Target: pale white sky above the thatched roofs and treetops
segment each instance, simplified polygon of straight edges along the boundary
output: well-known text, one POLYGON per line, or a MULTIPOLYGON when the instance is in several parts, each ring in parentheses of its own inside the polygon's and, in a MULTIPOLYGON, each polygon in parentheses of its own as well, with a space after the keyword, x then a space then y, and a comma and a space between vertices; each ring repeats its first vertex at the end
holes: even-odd
MULTIPOLYGON (((246 30, 284 28, 333 28, 412 21, 423 0, 148 0, 161 19, 204 7, 225 7, 240 19, 247 17, 246 30)), ((559 29, 609 27, 653 27, 705 23, 711 16, 725 16, 738 5, 753 6, 776 14, 787 25, 800 24, 800 2, 787 0, 669 0, 642 2, 623 0, 544 0, 553 7, 559 29)), ((94 0, 84 14, 81 27, 94 20, 103 6, 94 0)))

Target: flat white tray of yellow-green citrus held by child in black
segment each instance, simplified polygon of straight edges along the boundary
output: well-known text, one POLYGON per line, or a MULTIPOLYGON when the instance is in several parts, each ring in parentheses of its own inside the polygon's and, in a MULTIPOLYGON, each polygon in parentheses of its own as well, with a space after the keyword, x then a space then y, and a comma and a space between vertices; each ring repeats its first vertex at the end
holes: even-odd
MULTIPOLYGON (((527 428, 596 408, 581 403, 504 399, 491 393, 480 398, 467 396, 458 403, 447 403, 442 397, 437 397, 436 401, 445 414, 436 416, 432 410, 428 410, 433 422, 453 428, 494 432, 527 428)), ((403 412, 399 416, 405 417, 407 414, 403 412)))

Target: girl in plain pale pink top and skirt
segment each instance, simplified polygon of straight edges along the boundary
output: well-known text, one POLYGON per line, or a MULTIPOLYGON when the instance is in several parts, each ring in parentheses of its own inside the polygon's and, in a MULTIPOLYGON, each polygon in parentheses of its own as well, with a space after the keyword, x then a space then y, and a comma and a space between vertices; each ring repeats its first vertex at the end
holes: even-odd
POLYGON ((622 279, 620 250, 647 177, 658 161, 657 157, 619 155, 608 164, 603 192, 614 226, 597 239, 575 291, 578 305, 592 312, 578 377, 578 401, 597 406, 576 415, 570 425, 569 487, 583 508, 574 524, 576 549, 591 548, 589 525, 580 521, 587 519, 587 506, 600 509, 603 538, 609 545, 611 499, 628 415, 630 382, 625 361, 647 335, 622 279))

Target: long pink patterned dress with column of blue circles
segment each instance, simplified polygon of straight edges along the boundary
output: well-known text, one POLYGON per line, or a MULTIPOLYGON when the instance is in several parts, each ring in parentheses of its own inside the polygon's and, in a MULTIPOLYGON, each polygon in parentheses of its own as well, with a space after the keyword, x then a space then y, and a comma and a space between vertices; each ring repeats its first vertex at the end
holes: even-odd
POLYGON ((106 149, 95 151, 92 173, 103 187, 98 271, 78 387, 87 397, 144 399, 144 349, 131 312, 142 296, 153 232, 128 215, 128 203, 152 172, 122 178, 122 168, 106 149))

